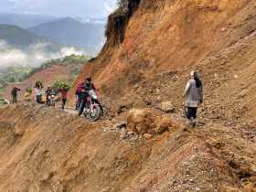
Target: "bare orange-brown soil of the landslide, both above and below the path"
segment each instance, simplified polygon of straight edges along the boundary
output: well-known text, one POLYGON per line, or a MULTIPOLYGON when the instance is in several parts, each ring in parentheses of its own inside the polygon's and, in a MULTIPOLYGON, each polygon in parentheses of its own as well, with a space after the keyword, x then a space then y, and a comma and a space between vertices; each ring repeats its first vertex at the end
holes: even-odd
POLYGON ((129 2, 76 81, 92 76, 101 89, 100 122, 38 106, 0 110, 0 191, 256 191, 256 2, 129 2), (191 69, 205 85, 195 129, 181 118, 191 69), (133 108, 164 115, 162 101, 173 102, 178 126, 152 138, 115 127, 133 108))

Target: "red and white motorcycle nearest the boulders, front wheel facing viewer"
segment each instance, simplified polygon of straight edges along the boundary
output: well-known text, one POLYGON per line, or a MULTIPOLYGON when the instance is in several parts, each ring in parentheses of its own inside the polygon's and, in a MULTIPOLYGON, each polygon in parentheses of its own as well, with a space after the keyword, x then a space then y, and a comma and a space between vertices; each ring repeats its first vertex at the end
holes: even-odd
POLYGON ((89 96, 86 98, 86 105, 84 109, 84 116, 87 117, 91 122, 96 122, 101 118, 102 108, 98 101, 98 96, 95 91, 89 91, 89 96))

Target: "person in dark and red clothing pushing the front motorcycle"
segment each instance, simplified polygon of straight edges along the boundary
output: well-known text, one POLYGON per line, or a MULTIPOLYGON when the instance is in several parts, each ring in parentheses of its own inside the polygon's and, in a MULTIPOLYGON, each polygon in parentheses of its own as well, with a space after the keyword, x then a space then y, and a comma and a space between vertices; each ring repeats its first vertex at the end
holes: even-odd
MULTIPOLYGON (((82 112, 84 111, 84 108, 86 106, 87 103, 87 97, 89 96, 89 91, 97 91, 94 84, 91 82, 91 78, 87 78, 84 82, 84 88, 82 90, 82 99, 81 99, 81 104, 80 104, 80 112, 79 112, 79 116, 82 114, 82 112)), ((101 107, 101 112, 103 112, 102 106, 100 101, 96 101, 100 107, 101 107)))

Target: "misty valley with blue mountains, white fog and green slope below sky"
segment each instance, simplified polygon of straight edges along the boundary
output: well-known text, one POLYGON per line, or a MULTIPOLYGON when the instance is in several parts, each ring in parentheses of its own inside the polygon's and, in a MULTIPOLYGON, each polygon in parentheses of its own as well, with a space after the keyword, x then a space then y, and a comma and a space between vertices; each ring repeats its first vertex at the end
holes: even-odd
POLYGON ((0 97, 38 69, 83 63, 104 44, 106 18, 0 14, 0 97), (68 61, 68 62, 67 62, 68 61))

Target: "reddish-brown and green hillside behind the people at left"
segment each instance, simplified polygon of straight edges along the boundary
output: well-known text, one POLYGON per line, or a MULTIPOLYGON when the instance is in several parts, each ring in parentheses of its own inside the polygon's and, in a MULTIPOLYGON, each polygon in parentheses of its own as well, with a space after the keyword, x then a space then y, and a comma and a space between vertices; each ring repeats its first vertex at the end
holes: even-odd
POLYGON ((9 81, 5 87, 1 88, 0 86, 0 98, 4 97, 10 100, 10 92, 14 85, 21 89, 21 95, 23 95, 27 88, 34 87, 37 80, 42 81, 45 86, 52 86, 60 81, 71 85, 88 59, 89 57, 87 56, 72 55, 64 59, 50 60, 34 69, 8 69, 8 74, 6 74, 3 80, 13 79, 14 81, 9 81), (20 78, 19 80, 17 79, 18 82, 16 81, 17 77, 20 78))

